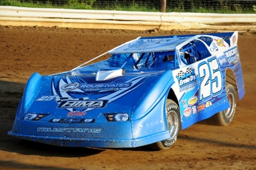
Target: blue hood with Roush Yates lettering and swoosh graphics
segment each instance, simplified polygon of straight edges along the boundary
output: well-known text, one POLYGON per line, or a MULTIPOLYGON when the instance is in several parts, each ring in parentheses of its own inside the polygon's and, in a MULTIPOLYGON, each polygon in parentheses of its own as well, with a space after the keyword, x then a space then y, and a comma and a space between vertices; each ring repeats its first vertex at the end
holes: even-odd
POLYGON ((95 75, 40 76, 35 73, 24 92, 23 113, 52 114, 52 118, 97 118, 104 113, 131 114, 145 98, 149 98, 153 88, 156 90, 151 101, 160 95, 165 85, 154 86, 164 73, 125 74, 106 81, 96 81, 95 75))

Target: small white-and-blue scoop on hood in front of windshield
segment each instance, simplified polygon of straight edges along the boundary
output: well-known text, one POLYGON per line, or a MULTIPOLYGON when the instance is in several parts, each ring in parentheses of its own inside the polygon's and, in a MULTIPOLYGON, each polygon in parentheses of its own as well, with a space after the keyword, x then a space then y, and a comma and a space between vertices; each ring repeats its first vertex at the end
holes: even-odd
POLYGON ((105 81, 107 79, 119 77, 125 74, 125 69, 122 68, 104 68, 97 71, 96 81, 105 81))

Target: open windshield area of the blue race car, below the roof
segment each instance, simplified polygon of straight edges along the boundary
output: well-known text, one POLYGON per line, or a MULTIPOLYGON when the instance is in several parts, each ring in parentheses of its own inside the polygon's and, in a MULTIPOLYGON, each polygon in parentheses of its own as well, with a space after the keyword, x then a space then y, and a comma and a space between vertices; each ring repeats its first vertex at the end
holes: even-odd
POLYGON ((96 74, 99 69, 116 69, 122 68, 126 71, 135 69, 175 69, 178 68, 178 61, 175 52, 150 52, 150 53, 127 53, 112 54, 109 59, 101 62, 90 64, 86 67, 77 67, 72 70, 72 74, 82 73, 96 74))

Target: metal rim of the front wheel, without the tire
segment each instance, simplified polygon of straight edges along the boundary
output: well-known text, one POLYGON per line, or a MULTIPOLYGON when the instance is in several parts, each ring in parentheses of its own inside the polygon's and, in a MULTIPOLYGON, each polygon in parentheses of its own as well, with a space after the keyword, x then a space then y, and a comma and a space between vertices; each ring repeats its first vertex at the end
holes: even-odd
POLYGON ((171 138, 169 138, 168 140, 171 140, 176 136, 176 133, 178 132, 179 118, 175 111, 170 111, 167 114, 166 118, 169 127, 169 133, 171 136, 171 138))

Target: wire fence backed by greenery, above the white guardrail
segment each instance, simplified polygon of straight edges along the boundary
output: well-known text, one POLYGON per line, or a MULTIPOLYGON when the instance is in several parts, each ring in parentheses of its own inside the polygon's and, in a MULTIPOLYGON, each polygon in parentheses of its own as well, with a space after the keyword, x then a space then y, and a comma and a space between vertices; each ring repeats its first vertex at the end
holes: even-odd
MULTIPOLYGON (((159 12, 160 1, 161 0, 1 0, 0 6, 159 12)), ((256 13, 256 0, 166 0, 165 11, 256 13)))

